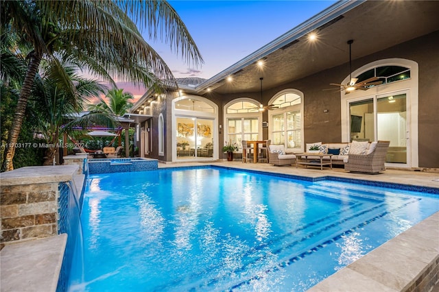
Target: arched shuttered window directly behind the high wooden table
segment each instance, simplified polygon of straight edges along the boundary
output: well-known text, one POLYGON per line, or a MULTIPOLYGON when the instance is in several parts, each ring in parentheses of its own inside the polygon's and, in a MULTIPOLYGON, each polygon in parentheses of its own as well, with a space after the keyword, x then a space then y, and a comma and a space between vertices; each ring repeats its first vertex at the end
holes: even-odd
POLYGON ((259 102, 250 98, 239 98, 224 106, 224 141, 242 147, 242 141, 262 138, 262 114, 259 102))

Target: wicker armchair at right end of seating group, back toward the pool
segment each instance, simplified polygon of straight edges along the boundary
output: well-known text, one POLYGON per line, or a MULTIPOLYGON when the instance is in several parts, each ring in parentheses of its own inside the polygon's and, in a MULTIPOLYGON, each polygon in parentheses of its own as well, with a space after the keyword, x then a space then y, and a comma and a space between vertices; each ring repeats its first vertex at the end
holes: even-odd
POLYGON ((348 154, 348 162, 344 165, 345 171, 379 173, 385 171, 385 155, 390 141, 378 141, 377 147, 370 154, 348 154))

